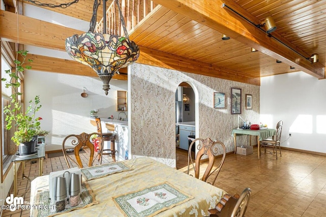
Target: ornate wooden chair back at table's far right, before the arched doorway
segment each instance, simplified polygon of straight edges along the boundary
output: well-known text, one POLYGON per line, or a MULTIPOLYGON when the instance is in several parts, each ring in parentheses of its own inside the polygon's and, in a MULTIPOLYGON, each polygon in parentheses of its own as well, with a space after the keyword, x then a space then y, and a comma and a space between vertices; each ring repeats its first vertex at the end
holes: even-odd
POLYGON ((199 178, 200 161, 202 160, 202 158, 204 156, 208 157, 208 165, 205 169, 204 175, 201 178, 201 180, 213 185, 216 178, 218 177, 218 175, 220 173, 220 170, 221 170, 224 160, 225 160, 225 156, 226 156, 225 145, 223 144, 223 142, 212 141, 210 138, 194 139, 192 141, 192 143, 190 144, 189 151, 188 151, 188 169, 187 169, 188 174, 189 174, 190 168, 192 166, 192 169, 195 171, 195 178, 199 178), (191 152, 192 152, 193 145, 195 145, 197 141, 198 141, 198 145, 197 145, 196 149, 198 150, 198 152, 196 154, 195 165, 194 165, 191 152), (215 157, 218 156, 219 154, 222 154, 221 161, 218 164, 218 166, 212 171, 212 168, 215 163, 215 157), (210 179, 208 179, 208 178, 210 178, 210 179))

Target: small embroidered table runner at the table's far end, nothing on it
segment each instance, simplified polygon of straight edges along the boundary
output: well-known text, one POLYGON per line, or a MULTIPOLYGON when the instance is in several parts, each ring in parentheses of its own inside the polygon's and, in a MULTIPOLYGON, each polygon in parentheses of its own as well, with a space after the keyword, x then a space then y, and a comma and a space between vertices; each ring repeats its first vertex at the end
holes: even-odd
POLYGON ((80 169, 83 173, 83 177, 86 180, 92 180, 95 178, 101 178, 107 175, 111 175, 114 173, 124 172, 132 170, 130 167, 126 166, 122 162, 115 162, 111 164, 102 164, 94 167, 87 167, 80 169))

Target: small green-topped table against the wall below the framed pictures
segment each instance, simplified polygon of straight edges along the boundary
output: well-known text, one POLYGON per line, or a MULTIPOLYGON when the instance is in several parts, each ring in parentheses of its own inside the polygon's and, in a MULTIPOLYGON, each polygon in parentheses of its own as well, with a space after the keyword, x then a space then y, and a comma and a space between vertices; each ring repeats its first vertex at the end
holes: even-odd
MULTIPOLYGON (((237 135, 248 135, 249 137, 251 136, 257 136, 257 155, 258 155, 258 160, 260 159, 260 141, 263 139, 267 139, 268 137, 273 137, 276 135, 276 130, 275 129, 259 129, 259 130, 250 130, 250 129, 233 129, 231 135, 233 136, 234 139, 234 153, 236 153, 236 136, 237 135)), ((251 145, 251 139, 249 139, 250 145, 251 145)))

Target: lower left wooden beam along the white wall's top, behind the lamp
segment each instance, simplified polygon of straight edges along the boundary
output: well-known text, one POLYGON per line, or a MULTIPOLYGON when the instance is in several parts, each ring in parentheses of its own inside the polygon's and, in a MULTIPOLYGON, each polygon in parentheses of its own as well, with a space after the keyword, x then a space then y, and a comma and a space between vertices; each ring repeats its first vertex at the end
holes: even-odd
MULTIPOLYGON (((96 72, 94 72, 91 67, 80 64, 74 60, 42 56, 30 53, 27 55, 27 58, 33 60, 31 63, 28 63, 28 65, 30 65, 32 67, 32 70, 35 71, 98 77, 96 72)), ((126 74, 115 74, 112 79, 127 80, 127 77, 128 76, 126 74)))

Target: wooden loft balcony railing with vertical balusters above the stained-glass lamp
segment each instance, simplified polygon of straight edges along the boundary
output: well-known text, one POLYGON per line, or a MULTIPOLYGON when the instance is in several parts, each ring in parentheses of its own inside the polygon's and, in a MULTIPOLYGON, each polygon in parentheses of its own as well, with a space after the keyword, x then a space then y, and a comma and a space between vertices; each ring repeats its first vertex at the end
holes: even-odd
MULTIPOLYGON (((120 0, 119 2, 128 34, 157 6, 151 0, 120 0)), ((103 18, 96 24, 95 32, 103 34, 103 18)), ((106 33, 124 36, 115 0, 106 11, 106 33)))

